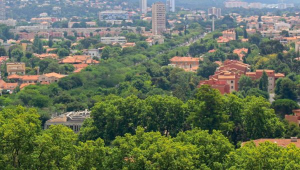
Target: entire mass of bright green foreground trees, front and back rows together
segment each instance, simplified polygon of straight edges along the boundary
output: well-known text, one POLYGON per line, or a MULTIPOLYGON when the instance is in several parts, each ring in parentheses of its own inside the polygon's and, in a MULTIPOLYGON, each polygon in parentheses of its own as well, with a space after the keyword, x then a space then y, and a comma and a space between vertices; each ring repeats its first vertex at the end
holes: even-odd
POLYGON ((110 96, 109 100, 103 100, 92 108, 92 118, 84 122, 85 127, 81 129, 79 136, 63 125, 52 125, 49 129, 42 130, 39 115, 34 108, 4 108, 0 111, 0 168, 300 167, 300 150, 294 144, 285 148, 270 142, 259 146, 248 143, 234 149, 235 146, 230 142, 234 137, 228 139, 225 136, 233 135, 232 129, 244 131, 243 134, 250 138, 283 135, 285 128, 275 117, 267 101, 261 97, 239 100, 232 94, 222 97, 217 91, 208 89, 207 86, 202 87, 195 99, 186 103, 175 97, 151 96, 140 100, 134 96, 110 96), (211 96, 213 98, 207 99, 211 96), (228 103, 232 104, 226 105, 228 103), (211 110, 205 113, 207 107, 211 107, 211 110), (188 112, 190 116, 184 115, 188 112), (184 121, 186 116, 189 120, 184 121), (237 120, 239 118, 240 120, 237 120), (233 126, 238 122, 241 124, 233 126), (239 128, 241 126, 244 126, 244 129, 239 128), (230 129, 227 127, 231 127, 231 131, 227 131, 230 129), (98 136, 103 136, 104 140, 98 136), (82 141, 82 137, 94 140, 82 141))

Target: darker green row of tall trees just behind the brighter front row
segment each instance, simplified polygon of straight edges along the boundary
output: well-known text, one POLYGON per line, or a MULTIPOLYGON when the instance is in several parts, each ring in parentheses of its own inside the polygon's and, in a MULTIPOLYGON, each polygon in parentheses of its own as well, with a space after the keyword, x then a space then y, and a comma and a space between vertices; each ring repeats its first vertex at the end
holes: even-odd
POLYGON ((83 123, 80 131, 82 141, 100 137, 110 143, 116 136, 133 134, 137 126, 165 136, 192 128, 220 130, 235 145, 249 139, 300 135, 299 127, 279 120, 265 98, 221 95, 208 85, 202 85, 185 103, 171 96, 139 99, 133 95, 108 95, 91 110, 92 118, 83 123))

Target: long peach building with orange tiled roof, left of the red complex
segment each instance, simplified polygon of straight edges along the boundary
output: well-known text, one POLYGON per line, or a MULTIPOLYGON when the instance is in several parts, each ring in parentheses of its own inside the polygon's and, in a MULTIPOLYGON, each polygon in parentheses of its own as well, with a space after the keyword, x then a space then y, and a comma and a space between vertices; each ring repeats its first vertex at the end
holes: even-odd
POLYGON ((201 58, 190 56, 174 56, 169 59, 169 65, 180 67, 189 71, 195 71, 199 67, 199 60, 201 60, 201 58))

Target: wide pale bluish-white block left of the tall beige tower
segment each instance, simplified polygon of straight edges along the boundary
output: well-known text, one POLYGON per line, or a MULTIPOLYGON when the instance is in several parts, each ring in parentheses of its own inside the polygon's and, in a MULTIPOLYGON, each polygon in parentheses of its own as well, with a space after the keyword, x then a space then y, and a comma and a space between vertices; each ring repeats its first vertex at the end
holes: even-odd
POLYGON ((100 20, 123 20, 129 19, 127 11, 122 10, 106 10, 99 12, 100 20))

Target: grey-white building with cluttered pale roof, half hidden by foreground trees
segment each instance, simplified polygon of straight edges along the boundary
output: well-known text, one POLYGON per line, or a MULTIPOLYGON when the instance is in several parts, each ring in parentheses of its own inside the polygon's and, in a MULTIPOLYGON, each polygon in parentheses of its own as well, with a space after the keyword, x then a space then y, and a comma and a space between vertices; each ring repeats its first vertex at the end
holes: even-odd
POLYGON ((44 129, 48 129, 51 125, 62 124, 70 127, 75 133, 78 133, 83 121, 90 117, 90 111, 70 111, 63 113, 57 117, 47 120, 44 124, 44 129))

